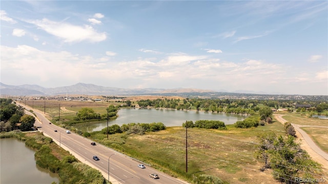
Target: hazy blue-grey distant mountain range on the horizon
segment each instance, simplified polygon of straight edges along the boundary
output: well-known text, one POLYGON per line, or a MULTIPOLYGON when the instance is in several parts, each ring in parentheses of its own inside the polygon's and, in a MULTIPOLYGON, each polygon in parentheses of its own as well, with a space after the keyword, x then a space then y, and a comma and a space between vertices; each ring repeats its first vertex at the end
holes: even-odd
POLYGON ((0 83, 1 95, 63 95, 63 94, 85 94, 85 95, 141 95, 152 93, 203 93, 203 92, 215 92, 211 90, 201 89, 124 89, 124 88, 112 88, 96 86, 93 84, 77 83, 72 86, 64 86, 57 88, 44 88, 38 85, 5 85, 0 83))

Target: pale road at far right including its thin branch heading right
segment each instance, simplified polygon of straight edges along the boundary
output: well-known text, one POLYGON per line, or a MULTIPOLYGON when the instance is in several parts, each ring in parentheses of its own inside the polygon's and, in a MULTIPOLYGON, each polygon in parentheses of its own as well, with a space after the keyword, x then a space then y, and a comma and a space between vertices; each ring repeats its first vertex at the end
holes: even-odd
MULTIPOLYGON (((285 122, 287 122, 288 120, 284 119, 283 114, 275 114, 275 118, 281 122, 282 124, 284 124, 285 122)), ((328 127, 324 127, 324 126, 309 126, 309 125, 297 125, 297 124, 292 124, 291 125, 294 127, 294 129, 299 132, 301 134, 301 139, 304 140, 304 143, 306 144, 306 146, 304 147, 306 151, 308 151, 308 153, 319 163, 321 163, 321 165, 326 168, 328 170, 328 154, 324 151, 322 151, 316 144, 315 142, 311 139, 311 137, 304 132, 302 129, 300 129, 300 127, 319 127, 319 128, 325 128, 328 131, 328 127), (311 150, 309 150, 309 148, 311 150), (313 152, 315 154, 313 154, 313 152), (321 157, 321 158, 318 158, 321 157)))

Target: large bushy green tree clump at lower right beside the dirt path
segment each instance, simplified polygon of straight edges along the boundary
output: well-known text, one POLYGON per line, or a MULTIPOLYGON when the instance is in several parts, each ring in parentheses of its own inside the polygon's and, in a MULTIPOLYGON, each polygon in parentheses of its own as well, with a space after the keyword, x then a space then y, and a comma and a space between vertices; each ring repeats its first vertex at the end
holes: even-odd
POLYGON ((295 142, 295 137, 274 133, 258 135, 256 158, 263 158, 264 168, 271 168, 275 179, 283 183, 298 183, 295 178, 313 179, 320 172, 320 164, 295 142))

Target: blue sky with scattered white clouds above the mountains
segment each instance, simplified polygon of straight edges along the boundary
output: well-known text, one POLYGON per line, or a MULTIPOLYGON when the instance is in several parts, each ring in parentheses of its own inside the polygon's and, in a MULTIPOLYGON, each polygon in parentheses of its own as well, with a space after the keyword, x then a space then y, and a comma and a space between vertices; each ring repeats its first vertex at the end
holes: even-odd
POLYGON ((1 82, 328 95, 327 1, 1 1, 1 82))

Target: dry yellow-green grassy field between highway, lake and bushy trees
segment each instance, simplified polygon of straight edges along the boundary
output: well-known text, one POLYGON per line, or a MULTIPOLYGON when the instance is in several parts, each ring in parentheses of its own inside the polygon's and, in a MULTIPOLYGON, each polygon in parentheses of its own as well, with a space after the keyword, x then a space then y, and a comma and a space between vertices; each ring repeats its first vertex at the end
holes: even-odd
POLYGON ((262 160, 253 156, 256 135, 283 126, 274 122, 258 128, 228 130, 188 129, 188 174, 186 174, 186 129, 167 130, 145 135, 106 135, 91 133, 91 138, 122 153, 145 161, 163 172, 190 180, 193 175, 208 174, 226 183, 278 183, 270 170, 260 172, 262 160))

